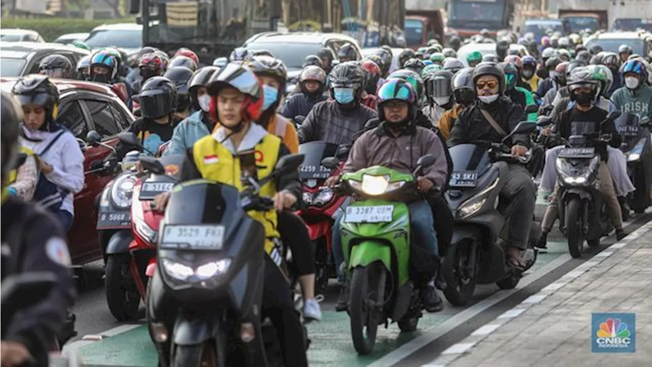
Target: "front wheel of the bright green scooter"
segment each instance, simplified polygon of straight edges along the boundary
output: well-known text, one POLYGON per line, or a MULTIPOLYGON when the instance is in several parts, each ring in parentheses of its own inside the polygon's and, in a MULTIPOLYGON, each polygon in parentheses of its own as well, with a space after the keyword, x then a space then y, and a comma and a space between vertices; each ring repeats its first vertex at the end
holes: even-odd
POLYGON ((370 307, 370 304, 383 304, 386 275, 385 266, 380 263, 360 266, 353 270, 349 300, 351 338, 355 351, 361 355, 371 353, 376 344, 381 306, 370 307))

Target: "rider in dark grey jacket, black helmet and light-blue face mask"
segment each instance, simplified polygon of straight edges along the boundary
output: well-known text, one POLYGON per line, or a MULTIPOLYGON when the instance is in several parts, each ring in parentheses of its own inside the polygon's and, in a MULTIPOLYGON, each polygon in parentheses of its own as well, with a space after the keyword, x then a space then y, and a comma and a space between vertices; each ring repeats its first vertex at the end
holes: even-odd
POLYGON ((378 116, 361 104, 364 71, 359 63, 340 63, 329 74, 333 100, 316 104, 299 127, 301 144, 321 140, 332 144, 350 144, 353 135, 366 121, 378 116))

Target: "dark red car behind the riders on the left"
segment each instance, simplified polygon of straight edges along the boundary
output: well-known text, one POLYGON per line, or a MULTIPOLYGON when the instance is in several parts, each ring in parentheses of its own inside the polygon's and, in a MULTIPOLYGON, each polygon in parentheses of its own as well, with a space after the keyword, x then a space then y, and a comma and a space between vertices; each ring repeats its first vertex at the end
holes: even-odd
MULTIPOLYGON (((11 91, 17 78, 0 78, 0 89, 11 91)), ((91 173, 91 165, 104 159, 110 150, 92 147, 85 142, 86 134, 97 131, 102 142, 117 144, 117 133, 125 130, 135 120, 126 104, 110 86, 80 80, 53 79, 59 89, 59 123, 72 131, 84 152, 85 182, 82 192, 75 195, 75 217, 68 232, 68 245, 72 263, 81 265, 102 259, 102 247, 95 230, 97 210, 95 200, 113 176, 91 173)))

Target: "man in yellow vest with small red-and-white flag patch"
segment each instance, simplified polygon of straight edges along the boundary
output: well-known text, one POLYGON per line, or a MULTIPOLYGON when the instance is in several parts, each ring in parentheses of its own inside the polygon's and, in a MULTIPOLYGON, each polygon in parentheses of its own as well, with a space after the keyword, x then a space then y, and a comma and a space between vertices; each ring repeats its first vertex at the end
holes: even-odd
MULTIPOLYGON (((267 168, 274 167, 280 157, 289 154, 289 150, 280 138, 254 123, 263 112, 263 86, 248 67, 230 63, 213 75, 208 90, 213 97, 211 105, 220 126, 212 135, 198 140, 192 151, 188 152, 187 167, 182 171, 184 180, 207 178, 243 190, 240 167, 235 162, 238 153, 258 150, 267 168), (205 159, 215 156, 220 159, 205 159)), ((257 166, 256 170, 259 169, 263 168, 257 166)), ((274 209, 250 212, 249 215, 263 225, 267 238, 278 238, 276 213, 289 209, 301 198, 298 172, 281 174, 275 182, 263 186, 261 193, 273 197, 274 209)), ((155 200, 156 208, 163 210, 169 198, 170 193, 159 195, 155 200)), ((271 243, 266 244, 265 248, 269 245, 271 243)), ((265 256, 265 261, 262 314, 269 317, 276 328, 284 365, 308 366, 303 347, 303 328, 294 308, 288 281, 269 256, 265 256)))

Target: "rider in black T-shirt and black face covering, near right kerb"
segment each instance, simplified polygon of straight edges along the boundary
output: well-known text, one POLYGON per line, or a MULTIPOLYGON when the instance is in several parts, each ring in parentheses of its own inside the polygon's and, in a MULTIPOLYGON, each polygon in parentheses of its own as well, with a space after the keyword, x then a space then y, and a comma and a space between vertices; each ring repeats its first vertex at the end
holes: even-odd
MULTIPOLYGON (((612 146, 617 147, 620 145, 620 135, 615 129, 613 121, 609 121, 607 125, 601 126, 600 123, 604 121, 608 112, 595 105, 596 96, 599 94, 599 83, 589 77, 588 73, 575 72, 572 79, 569 81, 569 89, 571 91, 571 99, 575 102, 573 108, 561 112, 555 121, 554 131, 565 139, 569 139, 571 135, 582 135, 584 133, 600 133, 611 134, 612 146)), ((599 148, 599 147, 596 147, 599 148)), ((614 183, 609 168, 606 165, 607 150, 600 152, 600 192, 602 197, 606 200, 609 210, 609 216, 615 227, 617 240, 625 238, 627 234, 623 229, 623 214, 621 212, 620 204, 616 198, 614 183)), ((547 164, 554 164, 552 160, 547 164)), ((559 182, 555 183, 552 195, 550 195, 548 208, 546 214, 541 221, 542 236, 537 246, 545 246, 548 232, 552 229, 552 225, 557 219, 559 213, 559 204, 557 200, 557 190, 559 189, 559 182)))

